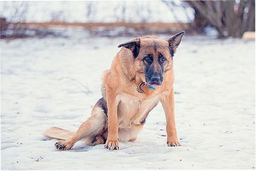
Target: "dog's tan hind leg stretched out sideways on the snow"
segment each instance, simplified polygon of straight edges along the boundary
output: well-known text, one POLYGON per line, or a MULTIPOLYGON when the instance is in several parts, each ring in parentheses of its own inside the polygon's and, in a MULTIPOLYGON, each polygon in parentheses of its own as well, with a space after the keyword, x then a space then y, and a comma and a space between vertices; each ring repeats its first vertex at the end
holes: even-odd
MULTIPOLYGON (((86 139, 87 137, 90 137, 91 139, 93 139, 93 137, 96 138, 97 136, 103 134, 106 130, 107 117, 104 114, 103 108, 96 103, 96 105, 93 107, 91 116, 81 124, 76 133, 74 133, 74 135, 67 140, 55 143, 55 147, 58 150, 69 150, 79 140, 86 139)), ((94 144, 104 143, 104 139, 97 140, 99 141, 94 141, 94 144)), ((91 145, 93 145, 93 142, 91 142, 91 145)))

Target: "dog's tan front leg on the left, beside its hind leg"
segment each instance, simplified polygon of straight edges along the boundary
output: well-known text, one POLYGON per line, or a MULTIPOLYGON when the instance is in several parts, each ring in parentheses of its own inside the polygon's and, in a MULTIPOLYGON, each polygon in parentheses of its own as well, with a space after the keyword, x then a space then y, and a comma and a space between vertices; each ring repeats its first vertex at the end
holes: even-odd
POLYGON ((108 133, 107 141, 105 147, 109 150, 119 150, 118 142, 118 129, 119 123, 117 121, 117 106, 119 101, 116 99, 116 94, 111 88, 106 88, 106 98, 107 98, 107 117, 108 117, 108 133))

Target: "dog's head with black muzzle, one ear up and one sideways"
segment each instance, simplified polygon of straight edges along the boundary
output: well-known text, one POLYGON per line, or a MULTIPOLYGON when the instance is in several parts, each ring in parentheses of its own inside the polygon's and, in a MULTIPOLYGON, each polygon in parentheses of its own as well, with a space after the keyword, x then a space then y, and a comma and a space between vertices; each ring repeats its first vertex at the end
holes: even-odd
POLYGON ((125 42, 118 47, 125 47, 132 51, 134 70, 144 74, 143 80, 147 84, 158 87, 163 84, 165 72, 172 68, 173 55, 184 34, 185 31, 179 32, 168 41, 146 36, 125 42))

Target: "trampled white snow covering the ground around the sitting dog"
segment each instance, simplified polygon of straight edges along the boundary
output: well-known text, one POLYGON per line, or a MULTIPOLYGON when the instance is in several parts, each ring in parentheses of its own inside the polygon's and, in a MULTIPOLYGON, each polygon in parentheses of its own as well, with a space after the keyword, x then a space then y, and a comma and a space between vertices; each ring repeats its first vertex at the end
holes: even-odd
MULTIPOLYGON (((101 77, 132 38, 1 40, 1 169, 255 168, 255 42, 185 36, 175 55, 175 113, 182 147, 166 145, 158 105, 136 142, 119 151, 78 142, 57 152, 42 133, 75 131, 100 98, 101 77)), ((162 35, 162 38, 168 38, 162 35)))

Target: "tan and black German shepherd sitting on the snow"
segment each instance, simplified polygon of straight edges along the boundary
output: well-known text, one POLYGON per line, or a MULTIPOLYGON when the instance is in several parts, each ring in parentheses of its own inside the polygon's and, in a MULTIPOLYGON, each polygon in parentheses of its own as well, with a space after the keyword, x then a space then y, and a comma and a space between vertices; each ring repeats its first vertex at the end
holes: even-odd
POLYGON ((76 132, 51 127, 45 137, 60 140, 55 143, 58 150, 69 150, 79 140, 119 150, 119 141, 136 140, 147 115, 160 101, 166 116, 167 144, 180 146, 174 116, 173 55, 184 34, 179 32, 168 41, 147 35, 120 44, 121 50, 104 73, 102 98, 91 116, 76 132))

